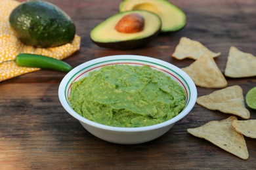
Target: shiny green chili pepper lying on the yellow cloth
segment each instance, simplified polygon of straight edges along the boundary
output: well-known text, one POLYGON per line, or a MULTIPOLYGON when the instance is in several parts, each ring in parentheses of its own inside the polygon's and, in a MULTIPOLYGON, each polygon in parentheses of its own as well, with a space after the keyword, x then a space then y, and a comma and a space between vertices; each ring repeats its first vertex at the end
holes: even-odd
POLYGON ((41 69, 54 69, 64 72, 72 70, 72 67, 64 61, 37 54, 18 54, 15 62, 18 66, 22 67, 38 67, 41 69))

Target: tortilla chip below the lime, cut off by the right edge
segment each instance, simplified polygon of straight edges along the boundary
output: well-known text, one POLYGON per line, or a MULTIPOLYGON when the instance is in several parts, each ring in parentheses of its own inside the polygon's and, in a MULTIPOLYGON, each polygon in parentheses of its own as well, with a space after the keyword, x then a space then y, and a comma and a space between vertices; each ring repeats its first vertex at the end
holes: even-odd
POLYGON ((256 120, 234 120, 232 126, 238 133, 256 139, 256 120))

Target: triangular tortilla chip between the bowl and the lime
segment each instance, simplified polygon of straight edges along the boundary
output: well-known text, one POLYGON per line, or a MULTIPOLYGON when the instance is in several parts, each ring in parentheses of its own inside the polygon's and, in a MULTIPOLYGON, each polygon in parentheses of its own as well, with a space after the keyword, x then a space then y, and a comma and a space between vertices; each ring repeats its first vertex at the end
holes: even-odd
POLYGON ((230 86, 216 90, 209 95, 203 95, 198 97, 196 103, 210 110, 219 110, 245 119, 250 118, 250 112, 245 108, 243 90, 240 86, 230 86))

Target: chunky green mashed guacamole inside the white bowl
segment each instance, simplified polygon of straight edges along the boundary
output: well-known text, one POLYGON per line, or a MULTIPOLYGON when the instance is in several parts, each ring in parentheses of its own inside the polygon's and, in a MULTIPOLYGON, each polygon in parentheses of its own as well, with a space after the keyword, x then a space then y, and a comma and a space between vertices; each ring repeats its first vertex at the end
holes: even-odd
POLYGON ((117 127, 158 124, 179 114, 186 93, 151 67, 109 65, 73 82, 72 108, 81 116, 117 127))

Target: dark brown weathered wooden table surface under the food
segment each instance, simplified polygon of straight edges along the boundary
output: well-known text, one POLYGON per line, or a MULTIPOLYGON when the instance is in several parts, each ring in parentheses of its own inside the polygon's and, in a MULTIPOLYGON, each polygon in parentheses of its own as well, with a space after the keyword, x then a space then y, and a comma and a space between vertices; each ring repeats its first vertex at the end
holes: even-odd
MULTIPOLYGON (((256 1, 173 1, 188 17, 184 29, 160 35, 145 48, 110 50, 89 39, 91 29, 116 14, 116 0, 49 0, 66 11, 81 36, 81 49, 65 59, 73 67, 90 59, 114 54, 159 58, 178 67, 194 60, 171 58, 181 37, 202 42, 214 52, 224 72, 230 46, 256 54, 256 1)), ((255 169, 256 140, 245 137, 249 159, 242 160, 186 132, 211 120, 230 116, 195 105, 192 112, 160 138, 143 144, 121 145, 102 141, 86 131, 58 100, 65 73, 41 70, 0 82, 0 169, 255 169)), ((256 78, 227 78, 228 86, 246 92, 256 78)), ((198 88, 198 95, 216 89, 198 88)), ((256 110, 251 110, 251 119, 256 110)))

